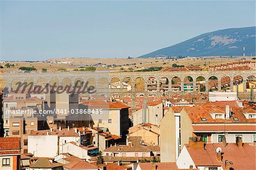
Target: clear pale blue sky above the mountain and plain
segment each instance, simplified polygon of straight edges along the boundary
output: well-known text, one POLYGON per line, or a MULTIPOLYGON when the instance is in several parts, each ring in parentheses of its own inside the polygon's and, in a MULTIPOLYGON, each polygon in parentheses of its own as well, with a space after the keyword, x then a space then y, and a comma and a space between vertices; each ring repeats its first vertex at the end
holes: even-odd
POLYGON ((0 1, 0 60, 138 57, 255 26, 255 1, 0 1))

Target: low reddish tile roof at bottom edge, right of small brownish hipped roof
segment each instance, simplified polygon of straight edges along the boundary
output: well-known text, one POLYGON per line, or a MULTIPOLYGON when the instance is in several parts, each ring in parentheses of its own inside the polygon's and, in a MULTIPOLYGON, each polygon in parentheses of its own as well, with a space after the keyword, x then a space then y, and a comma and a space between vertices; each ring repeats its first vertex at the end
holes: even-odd
POLYGON ((66 165, 64 165, 64 168, 66 169, 98 169, 98 167, 96 167, 93 164, 90 164, 84 160, 77 160, 77 161, 73 161, 72 163, 68 163, 66 165))

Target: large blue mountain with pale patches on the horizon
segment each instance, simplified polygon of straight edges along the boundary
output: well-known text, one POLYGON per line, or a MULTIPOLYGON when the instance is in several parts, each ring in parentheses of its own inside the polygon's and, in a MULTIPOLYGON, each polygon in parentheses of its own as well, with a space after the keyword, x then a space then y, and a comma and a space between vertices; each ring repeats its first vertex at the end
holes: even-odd
POLYGON ((156 56, 255 56, 256 27, 229 28, 208 32, 139 58, 156 56))

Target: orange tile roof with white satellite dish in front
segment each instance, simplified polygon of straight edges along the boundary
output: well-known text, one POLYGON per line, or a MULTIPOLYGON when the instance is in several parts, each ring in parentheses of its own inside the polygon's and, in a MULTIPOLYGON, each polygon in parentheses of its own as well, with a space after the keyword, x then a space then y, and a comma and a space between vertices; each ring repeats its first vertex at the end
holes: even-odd
POLYGON ((254 143, 244 143, 238 147, 236 143, 228 143, 226 147, 221 143, 206 144, 205 149, 189 148, 185 146, 193 162, 197 166, 222 166, 225 169, 225 161, 232 161, 230 168, 233 169, 256 169, 256 146, 254 143), (217 160, 216 149, 222 149, 222 161, 217 160))

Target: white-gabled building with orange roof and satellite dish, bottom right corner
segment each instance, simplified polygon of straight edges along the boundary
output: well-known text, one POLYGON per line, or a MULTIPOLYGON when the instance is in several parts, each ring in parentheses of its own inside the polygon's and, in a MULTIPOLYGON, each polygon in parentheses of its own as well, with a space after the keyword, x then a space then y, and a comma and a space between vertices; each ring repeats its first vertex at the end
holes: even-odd
POLYGON ((243 143, 237 136, 236 143, 205 143, 189 140, 184 144, 176 164, 178 168, 213 169, 255 169, 255 143, 243 143))

